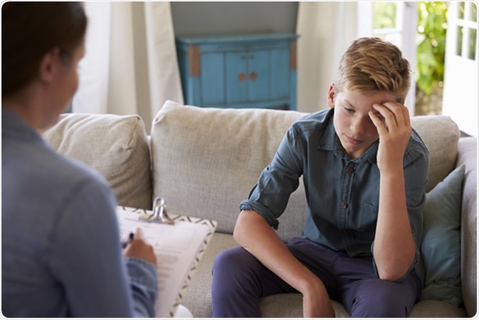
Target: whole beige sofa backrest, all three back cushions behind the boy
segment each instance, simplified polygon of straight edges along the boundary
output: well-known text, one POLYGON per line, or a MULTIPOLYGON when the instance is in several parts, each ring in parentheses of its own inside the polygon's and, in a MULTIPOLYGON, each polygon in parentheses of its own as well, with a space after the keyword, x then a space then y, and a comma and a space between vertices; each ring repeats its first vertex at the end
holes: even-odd
MULTIPOLYGON (((43 137, 59 153, 98 170, 119 205, 151 209, 152 195, 160 196, 169 212, 216 220, 218 231, 231 233, 240 202, 273 159, 286 130, 304 115, 167 101, 153 120, 150 137, 137 115, 78 113, 61 115, 43 137)), ((460 133, 445 115, 412 117, 411 123, 430 150, 429 191, 453 170, 460 133)), ((306 212, 300 181, 280 217, 282 239, 298 235, 306 212)))

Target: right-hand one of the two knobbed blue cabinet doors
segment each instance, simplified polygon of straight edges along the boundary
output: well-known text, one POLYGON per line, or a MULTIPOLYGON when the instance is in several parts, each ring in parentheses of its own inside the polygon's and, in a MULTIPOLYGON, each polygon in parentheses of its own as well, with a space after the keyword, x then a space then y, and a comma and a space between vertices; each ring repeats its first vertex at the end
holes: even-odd
POLYGON ((249 51, 248 52, 248 100, 266 101, 269 99, 270 91, 270 52, 271 51, 249 51))

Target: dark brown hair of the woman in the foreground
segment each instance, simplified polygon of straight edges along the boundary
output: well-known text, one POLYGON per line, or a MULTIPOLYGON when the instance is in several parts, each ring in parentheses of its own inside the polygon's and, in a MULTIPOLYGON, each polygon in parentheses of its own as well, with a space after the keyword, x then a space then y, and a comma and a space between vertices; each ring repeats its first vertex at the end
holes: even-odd
POLYGON ((1 7, 1 94, 10 96, 38 76, 43 56, 57 49, 65 65, 85 36, 80 2, 6 2, 1 7))

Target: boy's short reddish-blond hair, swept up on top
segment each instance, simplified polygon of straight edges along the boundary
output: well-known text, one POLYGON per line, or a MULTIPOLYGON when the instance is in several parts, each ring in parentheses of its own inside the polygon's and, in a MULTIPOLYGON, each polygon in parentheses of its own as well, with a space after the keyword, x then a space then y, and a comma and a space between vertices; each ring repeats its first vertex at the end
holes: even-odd
POLYGON ((411 86, 409 61, 399 48, 380 38, 358 38, 339 63, 335 91, 387 91, 404 103, 411 86))

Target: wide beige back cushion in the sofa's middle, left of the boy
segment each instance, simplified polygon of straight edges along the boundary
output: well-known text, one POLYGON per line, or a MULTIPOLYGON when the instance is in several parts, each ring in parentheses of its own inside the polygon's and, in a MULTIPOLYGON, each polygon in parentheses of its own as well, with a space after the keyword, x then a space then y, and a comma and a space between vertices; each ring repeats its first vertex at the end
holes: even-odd
MULTIPOLYGON (((164 197, 174 214, 216 220, 219 232, 233 232, 240 202, 273 160, 291 123, 302 115, 167 101, 152 124, 154 195, 164 197)), ((306 212, 301 184, 280 217, 282 239, 298 235, 306 212)))

